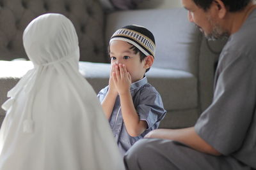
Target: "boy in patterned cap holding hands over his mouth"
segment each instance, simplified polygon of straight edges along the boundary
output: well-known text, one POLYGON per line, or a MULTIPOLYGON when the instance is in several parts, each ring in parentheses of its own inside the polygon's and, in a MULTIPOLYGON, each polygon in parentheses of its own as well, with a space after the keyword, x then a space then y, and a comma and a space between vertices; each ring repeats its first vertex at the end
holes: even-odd
POLYGON ((145 27, 127 25, 109 41, 109 85, 98 97, 121 153, 148 132, 157 129, 166 111, 145 73, 155 56, 155 39, 145 27))

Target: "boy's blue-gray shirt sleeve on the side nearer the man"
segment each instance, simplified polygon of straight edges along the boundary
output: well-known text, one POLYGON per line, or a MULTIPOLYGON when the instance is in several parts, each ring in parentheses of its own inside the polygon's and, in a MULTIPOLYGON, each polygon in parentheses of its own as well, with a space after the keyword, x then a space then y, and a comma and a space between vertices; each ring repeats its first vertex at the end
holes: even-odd
POLYGON ((140 120, 145 120, 150 129, 157 122, 160 122, 165 114, 163 101, 158 92, 144 89, 140 94, 140 103, 136 107, 140 120))

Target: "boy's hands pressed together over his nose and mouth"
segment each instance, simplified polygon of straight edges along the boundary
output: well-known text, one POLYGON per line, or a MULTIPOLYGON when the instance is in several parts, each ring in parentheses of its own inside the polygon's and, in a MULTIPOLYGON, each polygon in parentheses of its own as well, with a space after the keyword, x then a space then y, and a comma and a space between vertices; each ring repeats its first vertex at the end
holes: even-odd
POLYGON ((117 90, 119 95, 130 92, 130 87, 132 83, 131 74, 127 71, 124 64, 113 64, 111 74, 112 80, 109 80, 109 83, 115 84, 115 89, 117 90))

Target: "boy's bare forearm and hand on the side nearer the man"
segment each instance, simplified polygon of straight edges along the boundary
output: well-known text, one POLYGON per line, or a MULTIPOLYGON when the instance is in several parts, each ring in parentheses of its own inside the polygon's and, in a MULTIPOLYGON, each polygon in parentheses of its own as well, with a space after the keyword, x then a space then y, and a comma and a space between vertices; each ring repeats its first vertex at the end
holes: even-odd
POLYGON ((113 80, 120 97, 122 116, 124 118, 126 130, 130 136, 139 136, 145 129, 147 129, 147 122, 145 120, 140 120, 140 117, 134 108, 130 92, 131 75, 127 72, 125 65, 115 65, 113 80))

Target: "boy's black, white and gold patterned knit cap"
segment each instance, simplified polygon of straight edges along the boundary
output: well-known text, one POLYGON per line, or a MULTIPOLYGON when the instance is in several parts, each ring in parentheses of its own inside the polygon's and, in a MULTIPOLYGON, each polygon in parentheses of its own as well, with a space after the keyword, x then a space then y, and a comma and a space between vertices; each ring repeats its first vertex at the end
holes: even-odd
POLYGON ((139 25, 127 25, 122 27, 113 34, 109 44, 114 40, 127 41, 136 46, 145 55, 152 55, 155 57, 155 38, 152 32, 145 27, 139 25))

